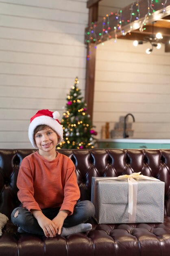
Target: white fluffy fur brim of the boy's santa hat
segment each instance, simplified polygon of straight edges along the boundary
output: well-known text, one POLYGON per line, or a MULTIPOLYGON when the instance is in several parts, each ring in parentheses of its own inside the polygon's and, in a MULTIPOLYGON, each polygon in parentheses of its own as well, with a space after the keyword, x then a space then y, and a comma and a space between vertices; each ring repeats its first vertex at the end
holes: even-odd
POLYGON ((28 128, 28 137, 34 148, 37 148, 37 145, 34 142, 34 130, 39 125, 50 126, 59 136, 58 144, 63 140, 63 127, 61 126, 61 124, 59 124, 59 122, 52 117, 42 115, 39 117, 35 117, 35 119, 33 119, 28 128))

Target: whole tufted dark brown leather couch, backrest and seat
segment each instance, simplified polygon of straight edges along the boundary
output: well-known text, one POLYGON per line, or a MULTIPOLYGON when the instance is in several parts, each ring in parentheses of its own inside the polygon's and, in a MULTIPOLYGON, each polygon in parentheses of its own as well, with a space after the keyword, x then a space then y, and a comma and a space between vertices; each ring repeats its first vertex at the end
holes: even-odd
MULTIPOLYGON (((22 159, 34 150, 0 150, 0 212, 10 218, 17 207, 17 174, 22 159)), ((0 236, 0 256, 170 256, 170 150, 59 150, 75 166, 81 200, 91 198, 93 176, 141 171, 165 182, 163 223, 98 225, 87 234, 46 238, 18 234, 9 220, 0 236)))

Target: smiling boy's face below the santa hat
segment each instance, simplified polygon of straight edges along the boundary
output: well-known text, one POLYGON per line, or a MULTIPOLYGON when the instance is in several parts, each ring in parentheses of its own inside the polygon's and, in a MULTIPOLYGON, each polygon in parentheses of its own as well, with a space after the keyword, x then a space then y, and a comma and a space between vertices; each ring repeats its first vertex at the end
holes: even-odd
POLYGON ((58 142, 57 133, 50 127, 40 130, 34 135, 35 143, 41 152, 55 150, 58 142))

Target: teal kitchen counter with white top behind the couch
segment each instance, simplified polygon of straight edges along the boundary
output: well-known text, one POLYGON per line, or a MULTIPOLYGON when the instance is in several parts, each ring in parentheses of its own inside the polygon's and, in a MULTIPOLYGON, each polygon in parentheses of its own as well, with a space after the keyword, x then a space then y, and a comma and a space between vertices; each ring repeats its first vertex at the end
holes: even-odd
POLYGON ((98 139, 95 148, 170 149, 170 139, 98 139))

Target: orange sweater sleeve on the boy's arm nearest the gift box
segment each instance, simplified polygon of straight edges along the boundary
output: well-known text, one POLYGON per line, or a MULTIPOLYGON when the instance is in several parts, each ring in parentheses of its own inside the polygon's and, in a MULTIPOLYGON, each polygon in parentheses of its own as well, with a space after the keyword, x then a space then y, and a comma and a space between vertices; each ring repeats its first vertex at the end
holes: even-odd
POLYGON ((77 184, 77 177, 75 173, 75 166, 68 168, 65 175, 65 186, 64 186, 64 200, 61 205, 61 210, 70 211, 72 215, 74 206, 77 200, 80 198, 80 189, 77 184))

